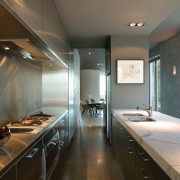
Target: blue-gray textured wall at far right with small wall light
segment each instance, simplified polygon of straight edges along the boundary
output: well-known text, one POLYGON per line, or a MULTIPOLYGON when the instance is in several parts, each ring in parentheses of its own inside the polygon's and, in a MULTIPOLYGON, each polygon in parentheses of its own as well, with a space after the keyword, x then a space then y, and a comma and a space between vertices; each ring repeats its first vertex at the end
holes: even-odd
POLYGON ((161 112, 180 118, 180 34, 153 49, 151 54, 158 51, 161 59, 161 112), (173 65, 176 65, 176 76, 172 75, 173 65))

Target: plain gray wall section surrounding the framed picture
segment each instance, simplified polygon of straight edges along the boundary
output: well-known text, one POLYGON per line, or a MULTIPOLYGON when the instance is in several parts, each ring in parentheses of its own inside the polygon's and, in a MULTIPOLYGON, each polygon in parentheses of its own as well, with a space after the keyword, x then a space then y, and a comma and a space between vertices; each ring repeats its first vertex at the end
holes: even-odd
POLYGON ((111 36, 111 102, 112 108, 136 108, 149 104, 149 41, 148 36, 111 36), (144 84, 117 84, 117 59, 144 59, 144 84))

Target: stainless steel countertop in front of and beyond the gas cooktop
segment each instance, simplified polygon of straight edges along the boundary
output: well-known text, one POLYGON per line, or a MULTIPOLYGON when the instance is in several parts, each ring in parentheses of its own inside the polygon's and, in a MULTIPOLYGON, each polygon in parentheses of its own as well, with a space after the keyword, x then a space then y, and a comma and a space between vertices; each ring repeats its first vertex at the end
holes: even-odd
MULTIPOLYGON (((11 133, 8 141, 0 147, 0 178, 4 173, 11 169, 11 167, 14 165, 16 166, 21 158, 38 143, 40 144, 40 147, 36 149, 41 152, 41 155, 43 137, 46 134, 48 135, 50 130, 61 121, 62 117, 67 114, 68 110, 60 107, 47 107, 43 108, 42 112, 53 115, 51 121, 42 124, 42 126, 37 127, 29 133, 11 133)), ((16 179, 15 177, 16 176, 14 175, 14 179, 16 179)))

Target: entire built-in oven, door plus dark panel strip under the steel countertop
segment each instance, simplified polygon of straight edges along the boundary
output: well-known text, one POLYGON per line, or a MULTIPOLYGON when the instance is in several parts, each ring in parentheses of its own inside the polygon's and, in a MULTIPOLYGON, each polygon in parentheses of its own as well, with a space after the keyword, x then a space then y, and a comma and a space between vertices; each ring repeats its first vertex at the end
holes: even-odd
POLYGON ((48 180, 58 162, 60 143, 59 143, 59 132, 57 129, 51 129, 43 137, 43 180, 48 180))

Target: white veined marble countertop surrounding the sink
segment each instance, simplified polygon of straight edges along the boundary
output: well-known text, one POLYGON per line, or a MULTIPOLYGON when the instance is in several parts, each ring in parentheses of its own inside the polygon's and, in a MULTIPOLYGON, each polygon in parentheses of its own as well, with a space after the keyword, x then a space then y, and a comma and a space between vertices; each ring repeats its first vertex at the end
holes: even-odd
POLYGON ((154 112, 151 122, 133 122, 123 113, 135 109, 113 109, 112 113, 172 180, 180 180, 180 119, 154 112))

